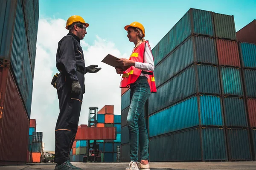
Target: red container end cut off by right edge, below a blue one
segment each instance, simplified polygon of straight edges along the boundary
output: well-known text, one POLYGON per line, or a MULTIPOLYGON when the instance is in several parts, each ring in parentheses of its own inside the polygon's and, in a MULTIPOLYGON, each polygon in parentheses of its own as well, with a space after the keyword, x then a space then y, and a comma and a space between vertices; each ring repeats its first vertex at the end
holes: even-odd
POLYGON ((256 99, 247 99, 250 127, 256 127, 256 99))

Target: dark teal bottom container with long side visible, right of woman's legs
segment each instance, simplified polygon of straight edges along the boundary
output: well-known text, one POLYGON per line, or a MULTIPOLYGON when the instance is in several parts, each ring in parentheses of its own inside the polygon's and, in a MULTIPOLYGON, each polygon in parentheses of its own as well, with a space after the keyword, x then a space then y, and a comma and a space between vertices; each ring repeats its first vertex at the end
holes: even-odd
POLYGON ((150 161, 226 161, 224 129, 195 128, 149 139, 150 161))

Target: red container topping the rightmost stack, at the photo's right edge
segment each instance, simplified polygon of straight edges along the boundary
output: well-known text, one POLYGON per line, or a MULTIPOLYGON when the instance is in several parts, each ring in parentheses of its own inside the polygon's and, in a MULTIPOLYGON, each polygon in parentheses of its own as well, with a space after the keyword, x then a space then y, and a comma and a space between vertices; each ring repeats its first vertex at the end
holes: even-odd
POLYGON ((256 44, 256 20, 253 20, 247 26, 237 31, 236 39, 239 42, 256 44))

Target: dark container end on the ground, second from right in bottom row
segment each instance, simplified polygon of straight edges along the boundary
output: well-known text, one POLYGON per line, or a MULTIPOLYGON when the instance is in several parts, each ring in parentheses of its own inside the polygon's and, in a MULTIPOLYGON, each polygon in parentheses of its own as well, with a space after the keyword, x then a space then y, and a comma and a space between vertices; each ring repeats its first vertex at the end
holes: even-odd
POLYGON ((227 129, 227 143, 231 161, 251 160, 247 129, 227 129))

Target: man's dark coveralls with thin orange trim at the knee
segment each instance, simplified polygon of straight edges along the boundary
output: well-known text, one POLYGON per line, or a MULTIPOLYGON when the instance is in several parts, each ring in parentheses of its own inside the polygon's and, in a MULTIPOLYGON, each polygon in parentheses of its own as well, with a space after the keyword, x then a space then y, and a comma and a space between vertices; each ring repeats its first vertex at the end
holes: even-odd
POLYGON ((58 42, 56 66, 60 74, 56 88, 59 99, 60 113, 55 127, 55 159, 57 163, 70 160, 72 148, 81 111, 84 90, 84 54, 80 39, 73 33, 68 33, 58 42), (81 94, 71 94, 71 84, 79 81, 81 94))

